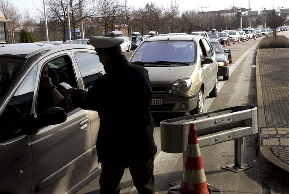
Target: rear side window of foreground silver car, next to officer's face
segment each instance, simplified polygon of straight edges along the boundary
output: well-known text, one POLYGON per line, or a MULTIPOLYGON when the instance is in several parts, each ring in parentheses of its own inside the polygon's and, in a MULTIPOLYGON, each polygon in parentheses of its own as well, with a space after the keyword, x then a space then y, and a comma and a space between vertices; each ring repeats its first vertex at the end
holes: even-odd
POLYGON ((99 57, 94 53, 75 53, 75 59, 81 72, 85 89, 88 90, 94 81, 101 75, 105 74, 99 57))

